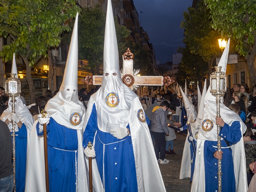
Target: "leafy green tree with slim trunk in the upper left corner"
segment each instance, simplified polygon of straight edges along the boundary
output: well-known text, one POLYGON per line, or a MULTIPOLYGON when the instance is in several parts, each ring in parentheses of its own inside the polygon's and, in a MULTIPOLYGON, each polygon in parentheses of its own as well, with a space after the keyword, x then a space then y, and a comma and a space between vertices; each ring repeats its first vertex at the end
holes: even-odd
POLYGON ((7 62, 13 53, 26 64, 30 100, 35 102, 30 70, 48 48, 60 44, 60 34, 70 30, 64 23, 78 12, 76 0, 2 0, 0 1, 0 36, 10 37, 0 57, 7 62))

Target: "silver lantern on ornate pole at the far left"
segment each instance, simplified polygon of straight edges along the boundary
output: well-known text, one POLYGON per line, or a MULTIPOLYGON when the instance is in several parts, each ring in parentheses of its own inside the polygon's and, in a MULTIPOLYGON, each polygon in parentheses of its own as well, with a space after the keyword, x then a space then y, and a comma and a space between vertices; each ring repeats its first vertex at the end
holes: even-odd
MULTIPOLYGON (((5 81, 6 94, 12 98, 12 113, 15 113, 15 97, 20 94, 20 80, 16 78, 17 74, 11 73, 10 78, 5 81)), ((13 158, 13 176, 14 192, 16 192, 16 155, 15 155, 15 122, 12 121, 12 158, 13 158)))

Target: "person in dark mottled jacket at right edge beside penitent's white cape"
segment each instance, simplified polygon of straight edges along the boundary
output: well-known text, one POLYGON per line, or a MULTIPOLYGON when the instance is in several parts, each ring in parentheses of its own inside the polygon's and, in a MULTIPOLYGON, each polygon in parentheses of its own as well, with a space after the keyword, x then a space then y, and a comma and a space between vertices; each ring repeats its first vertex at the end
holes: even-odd
POLYGON ((250 170, 249 165, 256 161, 256 141, 252 139, 252 130, 250 128, 246 129, 246 132, 243 134, 244 139, 244 153, 246 159, 246 174, 247 174, 247 183, 248 186, 254 175, 250 170))

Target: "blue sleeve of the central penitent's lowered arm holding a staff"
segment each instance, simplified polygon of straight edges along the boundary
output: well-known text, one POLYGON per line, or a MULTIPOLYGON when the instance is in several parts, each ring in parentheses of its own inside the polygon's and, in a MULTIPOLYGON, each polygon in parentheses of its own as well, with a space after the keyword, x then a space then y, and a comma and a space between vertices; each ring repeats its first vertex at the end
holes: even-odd
POLYGON ((93 142, 94 135, 95 135, 95 132, 96 132, 97 128, 98 128, 97 112, 96 112, 95 104, 93 104, 92 113, 90 115, 90 118, 88 120, 88 123, 86 125, 86 128, 84 130, 84 134, 83 134, 83 146, 84 146, 84 148, 86 148, 89 141, 93 142))

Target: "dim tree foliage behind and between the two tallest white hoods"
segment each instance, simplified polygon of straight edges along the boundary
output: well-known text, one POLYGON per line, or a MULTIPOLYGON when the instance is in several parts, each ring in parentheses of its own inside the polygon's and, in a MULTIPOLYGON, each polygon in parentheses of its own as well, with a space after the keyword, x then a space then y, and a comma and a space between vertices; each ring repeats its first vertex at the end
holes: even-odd
MULTIPOLYGON (((79 59, 88 60, 87 70, 92 74, 100 75, 100 66, 103 64, 104 33, 105 33, 106 13, 100 4, 94 8, 82 8, 78 20, 78 52, 79 59)), ((70 27, 74 22, 70 24, 70 27)), ((125 38, 130 34, 125 26, 120 26, 115 17, 116 37, 118 50, 123 50, 125 38)), ((71 33, 63 36, 65 42, 69 43, 71 33)))

